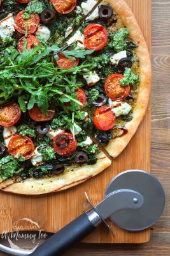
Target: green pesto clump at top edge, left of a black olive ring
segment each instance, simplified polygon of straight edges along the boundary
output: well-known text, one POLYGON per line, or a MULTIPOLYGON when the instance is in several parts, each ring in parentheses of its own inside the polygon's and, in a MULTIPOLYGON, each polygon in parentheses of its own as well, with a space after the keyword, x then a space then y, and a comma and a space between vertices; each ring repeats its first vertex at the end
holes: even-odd
POLYGON ((43 12, 43 4, 38 0, 33 0, 28 3, 24 12, 24 19, 29 19, 31 13, 41 13, 43 12))

